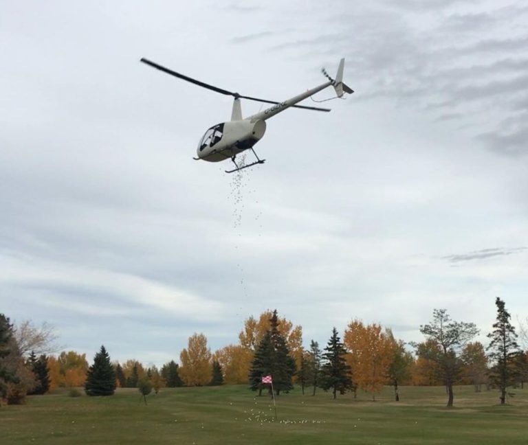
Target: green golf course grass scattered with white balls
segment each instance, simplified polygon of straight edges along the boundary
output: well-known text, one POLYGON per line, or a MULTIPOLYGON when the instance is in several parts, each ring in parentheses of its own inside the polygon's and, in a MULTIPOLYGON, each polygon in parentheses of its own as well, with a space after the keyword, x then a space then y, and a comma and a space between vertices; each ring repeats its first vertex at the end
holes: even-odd
POLYGON ((273 402, 244 386, 162 389, 144 406, 135 389, 112 397, 71 398, 59 390, 0 408, 0 444, 472 444, 528 443, 528 389, 507 406, 497 391, 456 387, 445 408, 442 387, 386 387, 332 400, 300 390, 273 402))

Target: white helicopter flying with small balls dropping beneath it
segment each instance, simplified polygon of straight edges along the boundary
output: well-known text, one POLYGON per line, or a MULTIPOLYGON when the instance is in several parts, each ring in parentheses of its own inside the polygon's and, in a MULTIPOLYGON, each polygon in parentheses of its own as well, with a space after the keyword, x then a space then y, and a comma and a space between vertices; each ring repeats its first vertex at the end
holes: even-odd
POLYGON ((158 65, 155 62, 151 62, 151 60, 148 60, 146 58, 142 58, 141 62, 146 63, 147 65, 150 65, 155 69, 159 69, 160 71, 164 71, 165 73, 168 73, 171 76, 175 76, 177 78, 186 80, 187 82, 199 85, 199 87, 207 88, 212 91, 216 91, 217 93, 225 95, 232 95, 234 97, 233 109, 231 112, 231 120, 229 122, 221 122, 221 124, 217 124, 209 128, 203 135, 203 137, 201 137, 200 142, 198 144, 198 157, 193 158, 197 161, 199 159, 203 159, 203 161, 209 162, 219 162, 225 161, 225 159, 231 159, 236 168, 234 168, 233 170, 225 170, 226 173, 237 172, 239 170, 242 170, 243 168, 248 168, 259 163, 264 163, 265 159, 259 159, 259 157, 256 155, 255 150, 253 149, 253 146, 264 136, 266 130, 266 120, 270 119, 270 117, 273 117, 274 115, 281 113, 281 111, 285 111, 286 109, 289 109, 292 106, 305 110, 330 111, 329 109, 317 108, 315 106, 296 105, 301 100, 309 98, 311 95, 314 95, 322 89, 325 89, 330 86, 332 86, 336 90, 336 95, 338 98, 341 98, 344 93, 351 94, 354 92, 350 87, 347 87, 347 85, 343 83, 344 58, 342 58, 339 63, 338 73, 336 74, 335 79, 331 78, 328 75, 327 71, 325 71, 325 69, 323 68, 322 73, 328 79, 327 82, 325 82, 324 84, 320 84, 318 87, 309 89, 304 93, 300 93, 294 96, 293 98, 287 99, 283 102, 252 98, 250 96, 241 95, 239 93, 233 93, 232 91, 214 87, 210 84, 206 84, 204 82, 200 82, 199 80, 184 76, 183 74, 177 73, 176 71, 173 71, 166 67, 162 67, 162 65, 158 65), (269 109, 266 109, 264 111, 261 111, 243 119, 240 105, 241 99, 256 100, 257 102, 273 104, 273 106, 271 106, 269 109), (244 166, 239 166, 239 164, 237 164, 235 161, 236 155, 239 155, 239 153, 248 149, 252 150, 256 161, 244 166))

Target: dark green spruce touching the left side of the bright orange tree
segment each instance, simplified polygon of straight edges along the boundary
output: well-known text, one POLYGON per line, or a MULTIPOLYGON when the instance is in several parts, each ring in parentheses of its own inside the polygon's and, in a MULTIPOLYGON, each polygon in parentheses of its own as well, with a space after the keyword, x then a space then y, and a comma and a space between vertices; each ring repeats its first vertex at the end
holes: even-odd
POLYGON ((345 355, 347 350, 344 348, 341 339, 338 336, 338 330, 333 328, 325 353, 322 358, 325 364, 322 365, 322 389, 328 391, 332 388, 333 398, 336 398, 337 392, 344 394, 347 389, 352 388, 351 368, 347 365, 345 355))

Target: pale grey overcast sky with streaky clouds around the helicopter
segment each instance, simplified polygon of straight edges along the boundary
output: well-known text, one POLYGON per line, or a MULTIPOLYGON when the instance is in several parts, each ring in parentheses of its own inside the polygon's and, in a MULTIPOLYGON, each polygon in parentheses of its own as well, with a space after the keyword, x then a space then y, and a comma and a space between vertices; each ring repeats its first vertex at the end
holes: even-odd
POLYGON ((214 351, 274 308, 321 345, 528 316, 527 1, 2 1, 0 55, 0 312, 89 361, 214 351), (232 98, 142 57, 271 100, 345 57, 355 93, 229 175, 192 156, 232 98))

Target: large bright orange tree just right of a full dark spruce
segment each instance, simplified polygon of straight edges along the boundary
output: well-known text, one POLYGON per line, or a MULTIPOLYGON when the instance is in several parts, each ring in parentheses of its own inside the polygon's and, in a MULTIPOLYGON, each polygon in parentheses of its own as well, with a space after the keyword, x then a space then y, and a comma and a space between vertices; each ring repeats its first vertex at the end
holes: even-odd
POLYGON ((376 323, 364 326, 361 321, 353 320, 344 331, 344 345, 354 383, 371 393, 375 400, 387 382, 388 368, 393 361, 391 336, 376 323))

